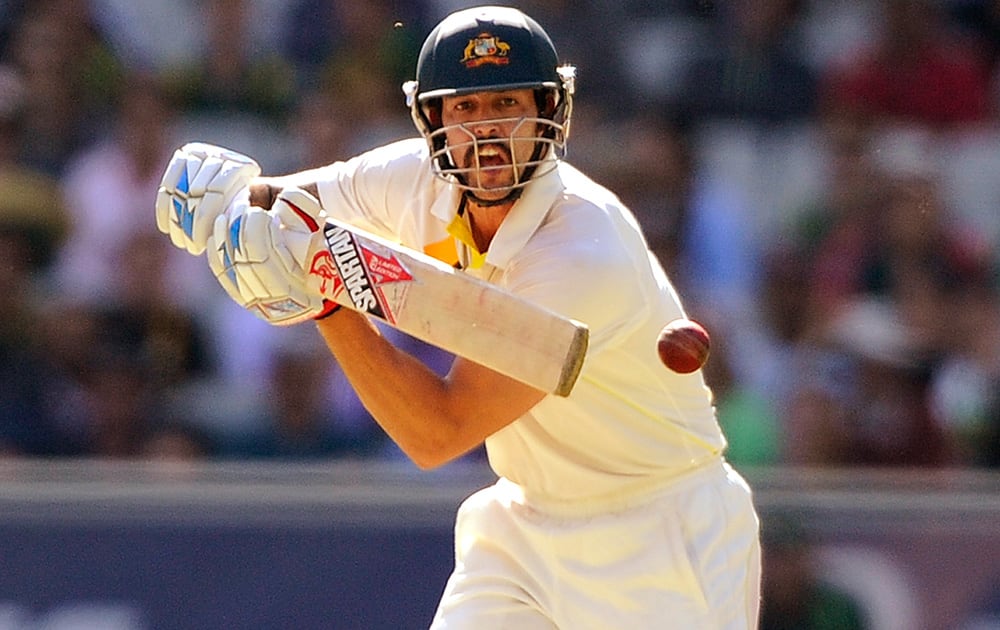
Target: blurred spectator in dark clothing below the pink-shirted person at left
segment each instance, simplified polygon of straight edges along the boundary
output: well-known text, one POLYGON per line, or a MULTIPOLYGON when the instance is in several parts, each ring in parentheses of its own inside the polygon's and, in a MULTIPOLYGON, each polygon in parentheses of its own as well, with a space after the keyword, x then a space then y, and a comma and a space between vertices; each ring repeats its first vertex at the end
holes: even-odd
POLYGON ((126 239, 113 268, 116 299, 84 305, 92 313, 91 360, 77 379, 88 405, 78 422, 83 453, 169 458, 215 453, 211 436, 165 404, 174 391, 215 369, 204 326, 170 294, 163 239, 126 239))

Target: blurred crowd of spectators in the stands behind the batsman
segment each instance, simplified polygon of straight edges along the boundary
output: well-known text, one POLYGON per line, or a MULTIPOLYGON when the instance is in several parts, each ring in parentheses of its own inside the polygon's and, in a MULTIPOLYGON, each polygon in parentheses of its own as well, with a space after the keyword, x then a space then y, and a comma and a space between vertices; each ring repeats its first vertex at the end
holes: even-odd
MULTIPOLYGON (((0 0, 2 457, 400 458, 155 192, 187 141, 277 174, 414 135, 400 84, 472 4, 0 0)), ((712 332, 737 466, 1000 466, 1000 2, 516 4, 578 67, 568 159, 712 332)), ((790 607, 793 531, 767 530, 790 607)))

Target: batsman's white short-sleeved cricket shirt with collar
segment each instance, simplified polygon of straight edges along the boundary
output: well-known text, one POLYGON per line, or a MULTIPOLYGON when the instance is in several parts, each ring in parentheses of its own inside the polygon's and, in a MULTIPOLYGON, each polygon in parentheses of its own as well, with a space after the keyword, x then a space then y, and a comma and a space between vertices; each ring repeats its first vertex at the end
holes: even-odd
MULTIPOLYGON (((312 173, 332 216, 434 251, 462 191, 434 176, 421 138, 312 173)), ((459 244, 459 248, 464 247, 459 244)), ((656 337, 684 315, 632 213, 563 162, 533 180, 467 270, 590 328, 572 393, 548 396, 486 440, 493 470, 552 503, 614 501, 716 459, 725 438, 700 371, 675 374, 656 337)))

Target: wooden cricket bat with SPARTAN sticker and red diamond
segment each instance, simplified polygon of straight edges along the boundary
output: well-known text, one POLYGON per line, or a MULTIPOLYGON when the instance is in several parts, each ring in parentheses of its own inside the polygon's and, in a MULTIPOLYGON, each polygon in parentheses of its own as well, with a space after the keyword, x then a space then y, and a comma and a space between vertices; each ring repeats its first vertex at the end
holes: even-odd
POLYGON ((573 389, 585 324, 347 223, 319 229, 325 251, 310 256, 309 273, 328 299, 551 394, 573 389))

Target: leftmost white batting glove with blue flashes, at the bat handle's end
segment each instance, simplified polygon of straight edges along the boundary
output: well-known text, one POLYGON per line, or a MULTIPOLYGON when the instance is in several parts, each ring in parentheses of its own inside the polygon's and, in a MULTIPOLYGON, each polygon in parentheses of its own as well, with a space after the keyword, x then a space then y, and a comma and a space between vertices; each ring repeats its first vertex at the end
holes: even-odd
POLYGON ((236 151, 185 144, 174 152, 157 190, 157 228, 177 247, 200 255, 215 219, 260 172, 253 158, 236 151))

